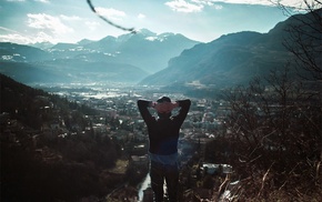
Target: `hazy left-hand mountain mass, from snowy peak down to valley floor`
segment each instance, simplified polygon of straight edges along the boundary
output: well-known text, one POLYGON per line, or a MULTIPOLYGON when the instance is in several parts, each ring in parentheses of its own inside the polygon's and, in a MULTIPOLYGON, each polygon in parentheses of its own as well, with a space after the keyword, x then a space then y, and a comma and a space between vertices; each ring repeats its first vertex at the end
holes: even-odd
POLYGON ((20 82, 131 82, 164 69, 184 49, 198 44, 182 34, 139 30, 78 43, 0 43, 0 73, 20 82), (39 47, 39 48, 36 48, 39 47), (40 49, 41 47, 50 47, 40 49))

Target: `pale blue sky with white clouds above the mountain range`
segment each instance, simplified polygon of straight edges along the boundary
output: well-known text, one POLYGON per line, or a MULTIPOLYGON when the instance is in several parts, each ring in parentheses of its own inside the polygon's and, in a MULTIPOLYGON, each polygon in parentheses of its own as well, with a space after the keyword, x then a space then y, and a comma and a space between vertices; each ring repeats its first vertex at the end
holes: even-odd
MULTIPOLYGON (((181 33, 210 42, 240 31, 269 32, 289 16, 272 0, 91 0, 95 11, 124 28, 181 33)), ((299 6, 303 0, 280 0, 299 6)), ((90 9, 87 0, 0 0, 0 42, 77 43, 128 31, 90 9)))

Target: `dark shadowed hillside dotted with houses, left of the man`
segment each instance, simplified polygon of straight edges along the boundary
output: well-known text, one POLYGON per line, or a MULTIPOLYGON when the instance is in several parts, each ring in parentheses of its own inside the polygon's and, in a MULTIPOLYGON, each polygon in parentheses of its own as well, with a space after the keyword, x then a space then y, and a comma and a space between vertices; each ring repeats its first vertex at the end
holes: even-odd
POLYGON ((95 111, 3 74, 0 87, 1 201, 79 201, 122 182, 102 173, 118 159, 110 138, 76 130, 95 111))

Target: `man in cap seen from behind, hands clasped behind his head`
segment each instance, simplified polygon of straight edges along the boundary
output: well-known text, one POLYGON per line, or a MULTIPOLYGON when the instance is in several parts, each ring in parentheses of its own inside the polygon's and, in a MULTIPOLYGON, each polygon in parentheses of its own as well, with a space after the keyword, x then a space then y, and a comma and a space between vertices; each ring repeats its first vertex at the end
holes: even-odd
POLYGON ((168 97, 162 97, 157 102, 138 100, 140 113, 148 127, 150 178, 155 202, 163 201, 164 180, 169 200, 177 201, 179 183, 178 139, 190 104, 190 100, 171 102, 168 97), (154 108, 158 118, 152 117, 148 108, 154 108), (180 108, 180 110, 177 115, 172 117, 171 112, 174 108, 180 108))

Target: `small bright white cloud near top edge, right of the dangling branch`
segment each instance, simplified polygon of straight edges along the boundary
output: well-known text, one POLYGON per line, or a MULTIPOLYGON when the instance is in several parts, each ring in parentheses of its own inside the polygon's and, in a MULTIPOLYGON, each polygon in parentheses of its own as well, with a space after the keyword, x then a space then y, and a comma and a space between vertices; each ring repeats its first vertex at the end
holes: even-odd
POLYGON ((203 4, 189 3, 185 0, 168 1, 165 6, 178 12, 200 12, 203 9, 203 4))

